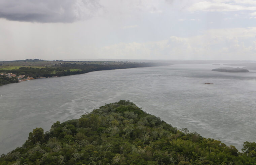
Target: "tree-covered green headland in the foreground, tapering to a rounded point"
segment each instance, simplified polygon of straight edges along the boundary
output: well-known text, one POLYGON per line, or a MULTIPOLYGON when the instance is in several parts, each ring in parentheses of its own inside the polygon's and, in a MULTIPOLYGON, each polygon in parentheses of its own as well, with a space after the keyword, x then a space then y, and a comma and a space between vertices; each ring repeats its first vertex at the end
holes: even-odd
POLYGON ((242 165, 256 164, 256 143, 243 152, 188 129, 177 129, 120 100, 84 114, 57 121, 49 131, 35 128, 28 140, 0 164, 242 165))

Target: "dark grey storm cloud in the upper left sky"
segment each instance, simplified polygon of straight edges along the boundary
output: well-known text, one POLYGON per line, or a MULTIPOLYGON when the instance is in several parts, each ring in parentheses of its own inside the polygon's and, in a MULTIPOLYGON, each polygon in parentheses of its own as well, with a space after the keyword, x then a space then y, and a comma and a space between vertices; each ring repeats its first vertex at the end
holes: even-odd
POLYGON ((1 0, 0 18, 27 22, 74 22, 101 8, 98 0, 1 0))

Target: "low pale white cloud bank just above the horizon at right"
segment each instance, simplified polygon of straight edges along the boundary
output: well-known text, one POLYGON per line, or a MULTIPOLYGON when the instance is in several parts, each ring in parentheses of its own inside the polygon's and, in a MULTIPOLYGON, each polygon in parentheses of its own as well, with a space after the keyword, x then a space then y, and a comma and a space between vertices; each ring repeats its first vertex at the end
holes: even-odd
POLYGON ((99 54, 133 59, 161 57, 160 59, 253 60, 256 52, 255 36, 256 27, 211 29, 193 37, 171 36, 162 41, 105 46, 100 49, 99 54))

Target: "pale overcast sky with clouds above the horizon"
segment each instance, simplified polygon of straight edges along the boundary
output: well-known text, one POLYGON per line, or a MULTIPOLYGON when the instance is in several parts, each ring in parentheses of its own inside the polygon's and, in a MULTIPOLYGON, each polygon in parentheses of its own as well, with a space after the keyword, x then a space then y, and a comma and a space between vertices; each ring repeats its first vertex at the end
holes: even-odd
POLYGON ((256 60, 256 0, 0 0, 0 60, 256 60))

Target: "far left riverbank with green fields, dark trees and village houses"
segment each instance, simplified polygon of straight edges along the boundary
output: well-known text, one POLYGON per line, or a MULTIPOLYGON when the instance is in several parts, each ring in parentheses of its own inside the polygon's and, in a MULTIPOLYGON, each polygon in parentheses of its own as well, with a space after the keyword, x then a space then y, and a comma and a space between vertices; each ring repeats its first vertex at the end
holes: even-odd
POLYGON ((128 61, 44 61, 27 59, 0 61, 0 85, 19 83, 25 80, 83 74, 99 70, 127 69, 171 65, 169 63, 128 61))

